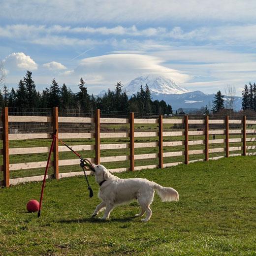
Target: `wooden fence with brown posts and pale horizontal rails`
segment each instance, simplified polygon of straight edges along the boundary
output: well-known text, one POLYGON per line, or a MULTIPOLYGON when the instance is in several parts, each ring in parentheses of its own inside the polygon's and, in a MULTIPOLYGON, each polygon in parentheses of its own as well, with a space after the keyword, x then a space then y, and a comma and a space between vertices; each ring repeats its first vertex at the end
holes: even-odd
MULTIPOLYGON (((46 166, 45 161, 34 161, 34 162, 22 162, 22 163, 9 163, 10 155, 17 154, 40 154, 48 153, 49 147, 22 147, 22 148, 10 148, 9 141, 12 140, 32 140, 32 139, 51 139, 51 133, 18 133, 18 134, 9 134, 8 124, 10 122, 33 122, 33 123, 51 123, 53 131, 57 130, 57 136, 60 139, 95 139, 93 145, 71 145, 71 147, 76 151, 89 151, 95 150, 95 156, 90 158, 92 162, 96 164, 99 163, 108 163, 113 161, 129 161, 129 167, 121 167, 110 169, 112 172, 121 172, 121 171, 135 171, 146 168, 164 168, 168 166, 177 165, 180 163, 189 164, 194 161, 201 160, 210 160, 210 159, 219 159, 221 157, 230 157, 230 156, 240 156, 240 155, 256 155, 255 152, 247 152, 248 149, 252 150, 256 147, 252 144, 247 146, 248 142, 256 141, 256 137, 253 135, 256 133, 256 129, 252 129, 256 125, 256 120, 246 120, 244 116, 242 120, 231 120, 226 116, 225 119, 209 119, 209 116, 205 116, 204 119, 190 119, 189 116, 184 116, 182 118, 163 118, 162 115, 159 118, 134 118, 134 113, 130 113, 129 118, 102 118, 100 117, 100 110, 97 110, 95 117, 60 117, 58 115, 58 108, 53 109, 53 116, 17 116, 9 115, 8 108, 3 108, 2 111, 2 144, 3 148, 0 152, 2 154, 3 164, 0 166, 0 171, 3 172, 3 181, 0 181, 0 185, 9 187, 10 185, 18 184, 21 182, 27 181, 40 181, 42 180, 42 175, 21 177, 21 178, 10 178, 10 172, 19 169, 33 169, 33 168, 44 168, 46 166), (87 123, 95 124, 94 132, 72 132, 72 133, 61 133, 59 132, 59 124, 62 123, 87 123), (129 132, 101 132, 100 126, 102 124, 124 124, 128 125, 129 132), (134 129, 135 125, 138 124, 147 124, 155 125, 158 127, 157 131, 137 131, 134 129), (165 131, 165 125, 176 126, 175 130, 165 131), (210 129, 211 125, 223 125, 222 129, 210 129), (230 126, 241 126, 241 128, 230 128, 230 126), (183 126, 183 128, 179 128, 183 126), (190 129, 190 126, 198 126, 200 128, 190 129), (248 129, 247 126, 251 126, 251 129, 248 129), (247 137, 247 134, 250 136, 247 137), (216 135, 222 135, 222 138, 217 138, 216 135), (230 138, 230 135, 239 135, 240 137, 230 138), (181 140, 176 141, 165 141, 165 138, 172 138, 173 136, 183 136, 181 140), (191 140, 192 136, 200 136, 199 140, 191 140), (210 136, 214 136, 214 139, 211 139, 210 136), (136 142, 136 138, 155 138, 155 141, 142 141, 136 142), (108 143, 101 144, 101 139, 104 138, 128 138, 128 143, 108 143), (224 143, 224 147, 219 148, 209 148, 212 144, 224 143), (231 146, 230 143, 241 143, 240 146, 231 146), (203 149, 192 149, 190 147, 193 145, 201 145, 203 149), (166 147, 180 147, 183 146, 184 150, 165 152, 166 147), (149 153, 149 154, 134 154, 134 150, 138 148, 158 148, 158 153, 149 153), (119 149, 129 149, 129 155, 121 156, 104 156, 101 157, 101 150, 119 150, 119 149), (241 151, 236 154, 230 154, 235 151, 241 151), (217 157, 209 157, 209 154, 223 152, 224 155, 217 157), (203 158, 190 160, 190 156, 200 155, 203 158), (183 160, 176 162, 164 162, 165 158, 171 157, 182 157, 183 160), (158 164, 142 165, 135 166, 135 160, 150 160, 158 159, 158 164)), ((64 146, 59 146, 58 141, 54 145, 54 154, 53 161, 50 162, 50 166, 53 167, 53 174, 48 175, 47 178, 63 178, 71 177, 76 175, 82 175, 83 172, 66 172, 59 173, 59 166, 68 166, 79 164, 79 159, 65 159, 59 160, 59 152, 67 151, 64 146)))

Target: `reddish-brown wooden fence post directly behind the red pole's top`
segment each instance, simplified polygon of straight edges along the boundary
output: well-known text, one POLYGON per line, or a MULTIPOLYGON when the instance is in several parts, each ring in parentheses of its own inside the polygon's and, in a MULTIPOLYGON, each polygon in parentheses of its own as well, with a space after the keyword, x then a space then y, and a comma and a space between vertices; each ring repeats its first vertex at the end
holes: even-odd
MULTIPOLYGON (((57 138, 59 137, 59 109, 53 107, 53 132, 56 132, 57 138)), ((59 180, 59 140, 56 139, 53 148, 53 177, 59 180)))

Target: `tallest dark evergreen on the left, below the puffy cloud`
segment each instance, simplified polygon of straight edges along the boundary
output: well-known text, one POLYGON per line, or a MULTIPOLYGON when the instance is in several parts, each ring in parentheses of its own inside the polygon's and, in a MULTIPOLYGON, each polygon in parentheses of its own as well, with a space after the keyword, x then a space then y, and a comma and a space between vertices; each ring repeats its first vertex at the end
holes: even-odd
POLYGON ((26 107, 38 106, 37 92, 35 90, 35 84, 32 80, 32 72, 27 71, 23 83, 26 89, 26 107))

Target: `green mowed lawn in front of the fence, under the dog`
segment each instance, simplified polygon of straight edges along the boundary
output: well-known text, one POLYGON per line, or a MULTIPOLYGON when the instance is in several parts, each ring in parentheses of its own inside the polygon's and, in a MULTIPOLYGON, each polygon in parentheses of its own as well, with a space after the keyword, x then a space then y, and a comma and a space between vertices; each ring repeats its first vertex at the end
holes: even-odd
MULTIPOLYGON (((26 212, 41 183, 0 189, 0 255, 256 255, 256 157, 233 157, 117 174, 175 188, 179 202, 152 203, 152 218, 133 218, 136 202, 110 221, 91 219, 100 202, 84 177, 47 180, 41 217, 26 212)), ((100 216, 102 213, 100 213, 100 216)))

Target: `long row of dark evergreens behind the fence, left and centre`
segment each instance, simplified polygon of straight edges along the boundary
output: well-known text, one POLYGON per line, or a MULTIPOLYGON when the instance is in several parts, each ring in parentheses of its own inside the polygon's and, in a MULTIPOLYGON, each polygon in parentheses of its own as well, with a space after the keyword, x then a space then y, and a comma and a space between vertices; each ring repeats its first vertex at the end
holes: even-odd
POLYGON ((27 71, 20 80, 17 90, 10 91, 4 85, 0 91, 0 106, 21 108, 52 108, 58 106, 64 109, 85 109, 94 111, 99 108, 106 111, 143 112, 156 114, 171 114, 172 107, 164 100, 152 100, 149 87, 141 85, 140 90, 128 98, 122 91, 123 85, 118 82, 115 89, 108 91, 103 96, 89 95, 85 81, 80 79, 79 91, 73 93, 65 84, 60 86, 53 79, 49 88, 42 92, 36 90, 32 79, 32 72, 27 71))

